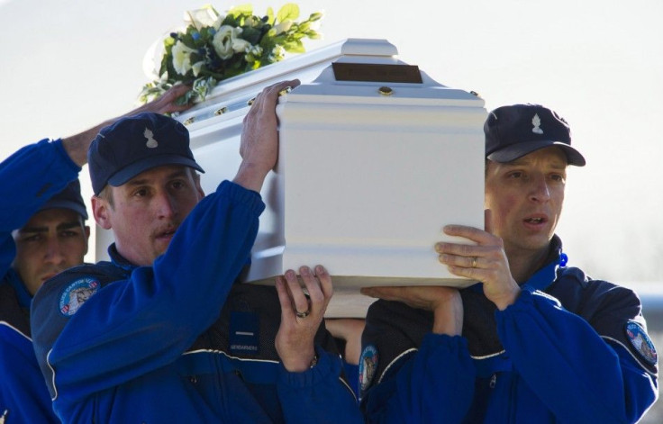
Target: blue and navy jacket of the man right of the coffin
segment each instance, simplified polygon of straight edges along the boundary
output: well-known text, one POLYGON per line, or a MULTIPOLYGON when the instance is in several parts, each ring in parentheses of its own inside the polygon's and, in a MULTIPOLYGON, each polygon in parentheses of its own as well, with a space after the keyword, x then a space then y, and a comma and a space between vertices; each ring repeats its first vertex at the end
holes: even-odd
POLYGON ((431 333, 432 314, 378 301, 362 338, 368 422, 633 423, 658 395, 640 301, 554 260, 497 311, 480 284, 461 290, 462 336, 431 333))

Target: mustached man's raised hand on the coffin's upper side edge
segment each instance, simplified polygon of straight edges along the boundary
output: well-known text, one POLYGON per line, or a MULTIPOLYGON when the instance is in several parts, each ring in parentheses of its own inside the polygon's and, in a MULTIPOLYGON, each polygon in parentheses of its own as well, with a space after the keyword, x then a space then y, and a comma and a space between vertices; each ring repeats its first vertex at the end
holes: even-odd
POLYGON ((259 192, 265 176, 277 165, 276 108, 279 93, 288 86, 299 86, 299 80, 283 81, 262 90, 244 117, 240 145, 242 161, 233 180, 244 188, 259 192))

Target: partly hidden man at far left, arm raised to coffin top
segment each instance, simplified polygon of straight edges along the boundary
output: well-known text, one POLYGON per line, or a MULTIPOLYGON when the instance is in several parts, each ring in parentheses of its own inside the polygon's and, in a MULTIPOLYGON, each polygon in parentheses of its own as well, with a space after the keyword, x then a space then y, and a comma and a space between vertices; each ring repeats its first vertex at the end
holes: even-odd
MULTIPOLYGON (((131 113, 169 113, 186 86, 131 113)), ((114 122, 61 140, 41 140, 0 164, 0 418, 59 422, 53 414, 30 332, 32 296, 53 275, 83 262, 89 228, 77 180, 96 133, 114 122)))

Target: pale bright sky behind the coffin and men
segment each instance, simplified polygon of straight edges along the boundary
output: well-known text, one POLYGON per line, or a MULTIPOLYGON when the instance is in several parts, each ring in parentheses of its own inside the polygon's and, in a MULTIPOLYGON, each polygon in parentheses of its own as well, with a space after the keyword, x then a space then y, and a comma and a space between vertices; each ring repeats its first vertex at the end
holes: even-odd
MULTIPOLYGON (((142 59, 150 44, 204 3, 0 0, 0 159, 131 110, 148 82, 142 59)), ((213 5, 244 3, 262 15, 286 2, 213 5)), ((297 4, 305 16, 325 12, 324 38, 307 42, 309 51, 347 38, 386 39, 399 59, 440 84, 477 91, 488 110, 513 103, 557 110, 587 159, 569 172, 558 227, 569 265, 615 283, 663 284, 663 2, 297 4)), ((87 185, 86 169, 82 176, 87 185)))

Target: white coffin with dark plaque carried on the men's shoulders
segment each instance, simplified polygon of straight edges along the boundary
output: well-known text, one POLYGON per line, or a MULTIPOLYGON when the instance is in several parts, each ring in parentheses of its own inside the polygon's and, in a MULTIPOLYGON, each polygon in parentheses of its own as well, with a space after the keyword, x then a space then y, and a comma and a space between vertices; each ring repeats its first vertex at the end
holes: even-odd
POLYGON ((484 101, 423 72, 420 83, 386 81, 412 75, 396 54, 386 41, 341 41, 226 80, 177 118, 210 193, 240 164, 250 99, 302 81, 277 106, 279 161, 261 192, 268 207, 246 282, 322 264, 335 290, 329 317, 364 316, 372 299, 361 286, 472 283, 450 275, 433 246, 450 240, 445 224, 483 228, 484 101), (365 81, 341 81, 332 62, 378 66, 350 66, 365 81))

